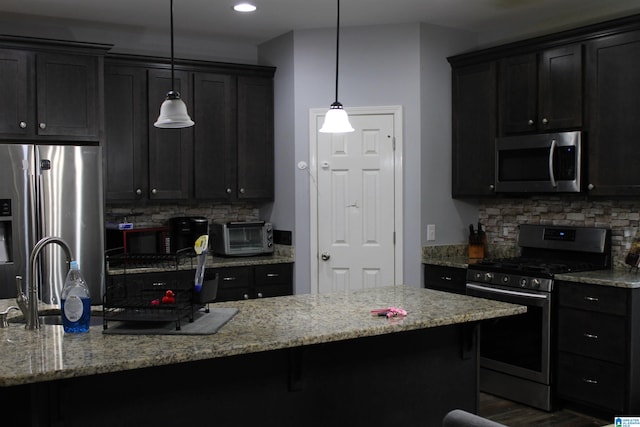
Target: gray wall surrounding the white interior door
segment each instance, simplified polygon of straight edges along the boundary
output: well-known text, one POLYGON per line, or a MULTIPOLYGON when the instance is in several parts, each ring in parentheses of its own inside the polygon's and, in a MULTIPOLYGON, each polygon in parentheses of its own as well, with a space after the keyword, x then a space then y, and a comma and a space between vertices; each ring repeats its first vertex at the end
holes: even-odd
MULTIPOLYGON (((431 244, 464 241, 464 224, 477 220, 477 208, 454 203, 450 196, 451 102, 446 56, 471 48, 468 33, 420 24, 343 28, 340 32, 339 98, 348 110, 356 106, 401 105, 404 152, 404 283, 422 283, 421 247, 425 214, 438 225, 431 244), (425 162, 428 168, 425 171, 425 162), (453 210, 453 211, 452 211, 453 210), (431 219, 433 218, 433 219, 431 219), (448 230, 453 230, 449 232, 448 230)), ((276 154, 286 160, 278 172, 293 177, 293 191, 276 195, 271 220, 295 229, 296 293, 311 291, 309 174, 296 169, 309 161, 309 110, 328 108, 334 98, 335 29, 295 31, 259 47, 261 63, 284 69, 276 75, 276 111, 293 108, 276 121, 276 154), (289 47, 293 49, 289 51, 289 47), (291 58, 283 52, 289 52, 291 58), (291 86, 292 84, 292 86, 291 86), (289 91, 293 90, 293 106, 289 91), (281 91, 287 93, 282 96, 281 91), (290 140, 290 130, 294 139, 290 140), (291 158, 288 144, 293 144, 291 158), (279 148, 278 148, 279 147, 279 148), (277 209, 277 210, 276 210, 277 209)), ((276 182, 279 181, 277 178, 276 182)), ((282 185, 282 184, 279 184, 282 185)), ((291 185, 291 184, 289 184, 291 185)))

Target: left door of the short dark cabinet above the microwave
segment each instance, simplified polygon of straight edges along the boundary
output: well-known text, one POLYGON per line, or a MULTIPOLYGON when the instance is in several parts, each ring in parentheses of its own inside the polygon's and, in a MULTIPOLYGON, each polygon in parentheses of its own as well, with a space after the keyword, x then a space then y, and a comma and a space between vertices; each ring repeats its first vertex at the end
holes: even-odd
POLYGON ((536 129, 538 58, 535 53, 500 60, 500 130, 502 134, 536 129))

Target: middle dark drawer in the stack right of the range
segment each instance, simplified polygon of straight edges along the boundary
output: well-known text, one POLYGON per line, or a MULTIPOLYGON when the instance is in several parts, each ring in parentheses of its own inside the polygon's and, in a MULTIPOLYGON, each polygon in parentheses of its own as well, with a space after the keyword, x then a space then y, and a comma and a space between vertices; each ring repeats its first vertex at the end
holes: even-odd
POLYGON ((558 316, 558 348, 624 363, 625 325, 624 317, 562 308, 558 316))

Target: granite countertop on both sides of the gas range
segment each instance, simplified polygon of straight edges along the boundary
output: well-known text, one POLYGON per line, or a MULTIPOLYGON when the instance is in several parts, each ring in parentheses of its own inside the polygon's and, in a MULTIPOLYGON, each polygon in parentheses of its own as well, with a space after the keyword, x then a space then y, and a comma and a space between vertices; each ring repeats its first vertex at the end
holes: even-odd
MULTIPOLYGON (((472 262, 467 257, 423 258, 423 264, 444 267, 467 268, 472 262)), ((580 271, 577 273, 556 274, 556 280, 588 283, 592 285, 613 286, 616 288, 640 288, 640 272, 636 269, 616 266, 611 270, 580 271)))

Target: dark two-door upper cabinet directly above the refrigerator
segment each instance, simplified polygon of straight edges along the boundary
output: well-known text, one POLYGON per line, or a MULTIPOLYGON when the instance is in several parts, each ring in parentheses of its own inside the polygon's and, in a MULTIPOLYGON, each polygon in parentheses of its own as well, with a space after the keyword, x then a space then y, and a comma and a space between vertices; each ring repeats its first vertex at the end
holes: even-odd
POLYGON ((8 49, 4 42, 0 38, 0 139, 98 142, 106 47, 87 54, 73 52, 77 43, 29 50, 32 43, 21 49, 17 38, 6 41, 8 49))

